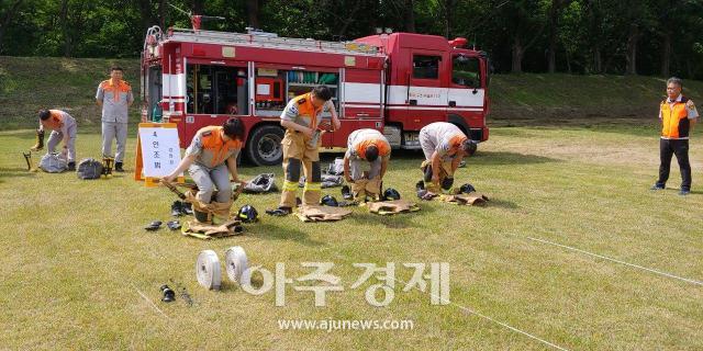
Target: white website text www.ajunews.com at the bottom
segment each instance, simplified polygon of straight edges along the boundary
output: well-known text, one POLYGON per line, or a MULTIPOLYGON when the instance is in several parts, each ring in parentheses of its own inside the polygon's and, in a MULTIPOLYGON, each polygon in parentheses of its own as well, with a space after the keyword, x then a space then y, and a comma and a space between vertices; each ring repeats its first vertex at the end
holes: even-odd
POLYGON ((280 330, 413 330, 411 319, 278 319, 280 330))

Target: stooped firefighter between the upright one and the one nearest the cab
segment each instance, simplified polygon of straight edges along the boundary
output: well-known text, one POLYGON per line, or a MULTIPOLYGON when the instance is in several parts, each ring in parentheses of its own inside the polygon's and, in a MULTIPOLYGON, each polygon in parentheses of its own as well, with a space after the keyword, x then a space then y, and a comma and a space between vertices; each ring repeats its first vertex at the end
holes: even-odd
POLYGON ((377 200, 381 195, 390 156, 391 145, 380 132, 358 129, 349 134, 347 152, 344 155, 344 178, 352 184, 355 199, 365 201, 366 195, 370 195, 377 200), (366 162, 369 163, 369 170, 362 171, 366 162))

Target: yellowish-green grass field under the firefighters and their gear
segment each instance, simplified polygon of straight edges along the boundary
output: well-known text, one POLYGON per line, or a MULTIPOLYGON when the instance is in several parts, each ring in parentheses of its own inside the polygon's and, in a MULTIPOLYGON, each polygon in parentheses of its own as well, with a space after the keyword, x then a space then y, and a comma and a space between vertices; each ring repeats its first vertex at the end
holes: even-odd
MULTIPOLYGON (((134 131, 132 131, 134 132, 134 131)), ((27 173, 21 150, 30 131, 0 133, 0 344, 8 349, 446 349, 701 350, 703 286, 548 242, 703 280, 703 145, 691 141, 693 193, 650 192, 658 167, 654 125, 590 121, 560 127, 496 127, 459 171, 492 201, 488 207, 422 203, 410 215, 380 217, 355 210, 334 224, 264 216, 246 235, 213 241, 185 238, 150 220, 169 219, 175 197, 145 189, 130 174, 81 181, 72 173, 27 173), (539 241, 543 240, 543 241, 539 241), (546 240, 546 241, 544 241, 546 240), (548 242, 547 242, 548 241, 548 242), (203 249, 222 259, 243 246, 254 264, 289 278, 301 262, 334 262, 344 292, 314 307, 310 292, 287 286, 253 296, 225 282, 221 292, 197 284, 203 249), (451 305, 428 293, 394 288, 372 307, 349 285, 352 263, 448 262, 451 305), (196 301, 159 301, 172 280, 196 301), (142 296, 142 294, 144 296, 142 296), (148 301, 147 301, 148 299, 148 301), (160 314, 152 303, 164 314, 160 314), (459 307, 462 306, 462 307, 459 307), (481 316, 492 318, 494 321, 481 316), (411 319, 413 330, 280 330, 278 319, 411 319)), ((99 156, 99 135, 79 134, 78 154, 99 156)), ((133 160, 130 139, 127 160, 133 160)), ((330 159, 333 156, 327 156, 330 159)), ((394 155, 387 185, 413 197, 420 155, 394 155)), ((132 167, 129 167, 132 169, 132 167)), ((245 179, 279 168, 243 167, 245 179)), ((338 190, 332 191, 338 194, 338 190)), ((278 196, 244 195, 259 212, 278 196)), ((260 280, 257 278, 257 280, 260 280)))

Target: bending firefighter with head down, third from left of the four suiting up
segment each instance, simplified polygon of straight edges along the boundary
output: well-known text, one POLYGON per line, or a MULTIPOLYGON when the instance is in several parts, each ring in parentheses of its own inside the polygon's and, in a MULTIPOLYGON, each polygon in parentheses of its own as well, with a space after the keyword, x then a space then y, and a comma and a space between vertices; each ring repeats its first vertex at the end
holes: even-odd
MULTIPOLYGON (((391 156, 391 146, 388 139, 376 129, 357 129, 349 134, 347 151, 344 155, 344 178, 348 183, 355 183, 361 179, 380 182, 386 176, 388 160, 391 156), (362 170, 364 163, 370 168, 362 170)), ((380 189, 377 194, 380 194, 380 189)))

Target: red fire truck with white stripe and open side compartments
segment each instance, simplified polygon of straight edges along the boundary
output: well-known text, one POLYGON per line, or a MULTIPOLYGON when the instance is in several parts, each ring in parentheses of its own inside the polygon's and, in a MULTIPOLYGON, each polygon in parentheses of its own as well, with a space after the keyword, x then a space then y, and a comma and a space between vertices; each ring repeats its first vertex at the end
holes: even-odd
POLYGON ((376 128, 393 148, 417 149, 420 129, 437 121, 483 141, 488 58, 466 44, 413 33, 339 43, 154 26, 142 53, 142 120, 177 123, 187 147, 199 128, 239 116, 244 155, 271 166, 282 159, 286 103, 325 84, 342 128, 323 135, 324 147, 346 147, 353 131, 376 128))

